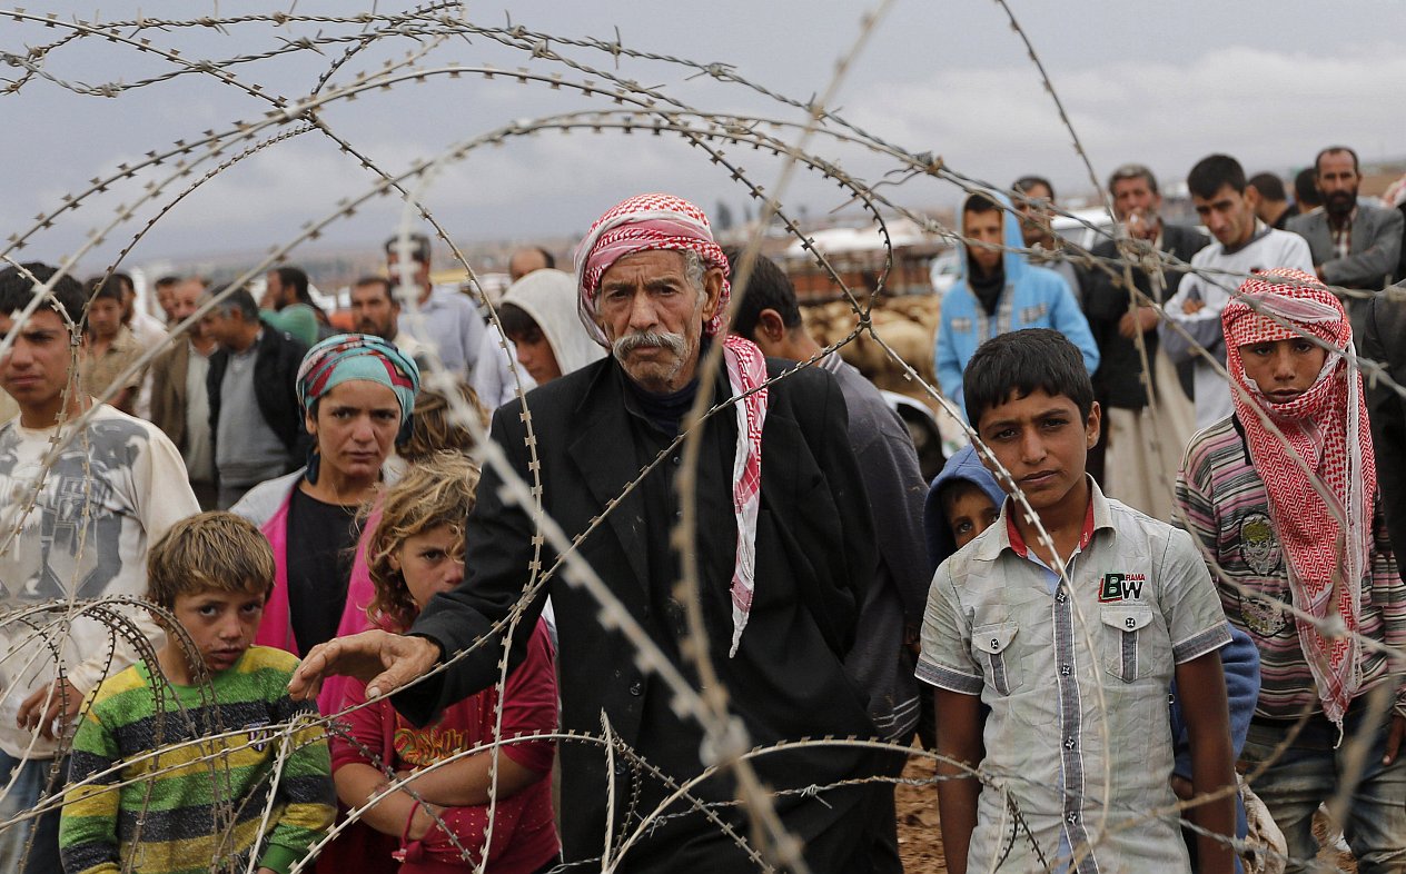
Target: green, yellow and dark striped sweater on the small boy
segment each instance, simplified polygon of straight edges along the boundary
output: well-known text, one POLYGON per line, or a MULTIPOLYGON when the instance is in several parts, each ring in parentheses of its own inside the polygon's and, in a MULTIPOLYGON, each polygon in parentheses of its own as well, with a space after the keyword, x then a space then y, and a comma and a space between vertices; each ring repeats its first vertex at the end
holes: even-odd
POLYGON ((335 815, 322 728, 280 732, 316 717, 288 697, 297 666, 252 646, 211 687, 153 684, 142 662, 104 680, 73 739, 63 870, 233 873, 257 854, 259 867, 287 874, 335 815))

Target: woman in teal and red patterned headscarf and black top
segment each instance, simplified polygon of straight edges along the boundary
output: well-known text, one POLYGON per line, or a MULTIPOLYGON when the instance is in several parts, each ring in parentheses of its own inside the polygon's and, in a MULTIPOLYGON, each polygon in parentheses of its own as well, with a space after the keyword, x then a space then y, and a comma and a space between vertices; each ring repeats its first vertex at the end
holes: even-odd
POLYGON ((366 559, 353 549, 357 510, 382 479, 394 479, 387 458, 419 386, 415 361, 370 334, 328 337, 302 360, 297 391, 312 436, 308 465, 254 486, 233 507, 273 545, 277 573, 257 644, 308 652, 336 637, 349 582, 370 586, 366 559))

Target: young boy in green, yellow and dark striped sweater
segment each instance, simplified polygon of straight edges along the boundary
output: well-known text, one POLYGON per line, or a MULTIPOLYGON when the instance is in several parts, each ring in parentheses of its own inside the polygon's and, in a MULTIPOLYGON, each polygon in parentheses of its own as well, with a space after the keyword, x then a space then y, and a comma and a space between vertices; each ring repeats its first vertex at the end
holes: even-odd
POLYGON ((155 665, 103 681, 73 739, 59 826, 69 874, 288 874, 332 825, 328 743, 288 697, 298 659, 252 646, 273 586, 264 537, 231 513, 177 523, 148 556, 169 611, 155 665))

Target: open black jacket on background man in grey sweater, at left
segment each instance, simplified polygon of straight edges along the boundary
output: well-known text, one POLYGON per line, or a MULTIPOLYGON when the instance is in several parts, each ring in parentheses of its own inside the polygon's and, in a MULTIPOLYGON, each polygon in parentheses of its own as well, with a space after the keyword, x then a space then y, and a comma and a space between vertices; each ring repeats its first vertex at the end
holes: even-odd
MULTIPOLYGON (((287 332, 270 325, 263 326, 263 339, 254 356, 254 403, 259 413, 288 447, 288 469, 295 471, 307 461, 308 430, 302 420, 302 406, 298 403, 298 365, 308 354, 308 347, 287 332)), ((209 392, 209 441, 215 444, 219 434, 219 386, 229 367, 229 353, 217 348, 209 356, 209 372, 205 375, 205 391, 209 392)))

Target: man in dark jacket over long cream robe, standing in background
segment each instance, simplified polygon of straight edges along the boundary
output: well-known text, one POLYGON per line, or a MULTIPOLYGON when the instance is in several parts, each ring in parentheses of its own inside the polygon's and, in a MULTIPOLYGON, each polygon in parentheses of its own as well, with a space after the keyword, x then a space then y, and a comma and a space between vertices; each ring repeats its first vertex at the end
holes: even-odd
MULTIPOLYGON (((1130 267, 1133 285, 1140 292, 1132 308, 1126 287, 1125 263, 1114 240, 1094 247, 1094 254, 1109 259, 1109 271, 1090 271, 1084 315, 1098 343, 1099 367, 1094 391, 1104 407, 1107 458, 1104 489, 1123 503, 1153 516, 1171 518, 1171 489, 1181 450, 1191 438, 1195 412, 1175 367, 1160 354, 1157 343, 1157 308, 1177 291, 1182 273, 1175 264, 1191 260, 1209 240, 1191 228, 1161 221, 1161 194, 1157 177, 1142 164, 1125 164, 1108 180, 1114 214, 1132 237, 1135 253, 1156 256, 1157 281, 1142 266, 1130 267), (1161 264, 1166 263, 1166 267, 1161 264), (1147 363, 1153 372, 1144 377, 1143 357, 1137 348, 1142 334, 1147 363), (1147 384, 1156 386, 1156 431, 1147 416, 1147 384), (1153 440, 1160 443, 1154 451, 1153 440)), ((1142 263, 1142 260, 1139 261, 1142 263)))

